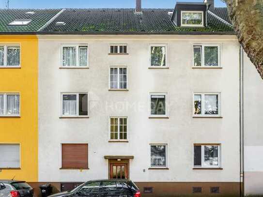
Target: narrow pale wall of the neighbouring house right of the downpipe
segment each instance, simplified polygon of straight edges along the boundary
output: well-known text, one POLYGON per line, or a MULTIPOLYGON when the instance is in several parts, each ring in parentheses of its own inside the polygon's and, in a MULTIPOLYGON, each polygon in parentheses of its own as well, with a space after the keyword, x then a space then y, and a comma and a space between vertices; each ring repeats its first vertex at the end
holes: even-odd
POLYGON ((244 55, 245 194, 263 194, 263 80, 244 55))

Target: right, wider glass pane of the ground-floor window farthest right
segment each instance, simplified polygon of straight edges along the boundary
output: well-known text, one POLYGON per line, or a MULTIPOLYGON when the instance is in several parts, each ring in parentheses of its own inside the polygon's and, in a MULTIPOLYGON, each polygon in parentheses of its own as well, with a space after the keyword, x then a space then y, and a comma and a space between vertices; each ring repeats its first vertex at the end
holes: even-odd
POLYGON ((218 146, 204 146, 204 164, 218 166, 218 146))

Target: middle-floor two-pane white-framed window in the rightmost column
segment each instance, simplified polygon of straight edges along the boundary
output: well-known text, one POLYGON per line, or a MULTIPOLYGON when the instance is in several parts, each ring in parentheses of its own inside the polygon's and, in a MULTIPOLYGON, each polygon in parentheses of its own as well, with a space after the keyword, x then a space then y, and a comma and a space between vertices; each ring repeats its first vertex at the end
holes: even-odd
POLYGON ((194 116, 220 116, 221 93, 220 92, 195 92, 194 116))

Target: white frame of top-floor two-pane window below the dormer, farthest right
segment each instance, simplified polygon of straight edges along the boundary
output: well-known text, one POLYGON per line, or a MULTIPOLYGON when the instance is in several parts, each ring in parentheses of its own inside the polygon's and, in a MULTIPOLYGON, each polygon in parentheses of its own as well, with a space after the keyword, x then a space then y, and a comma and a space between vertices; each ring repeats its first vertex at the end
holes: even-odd
POLYGON ((194 44, 193 45, 193 68, 222 68, 221 65, 221 44, 194 44), (194 48, 201 46, 201 66, 195 66, 194 48), (218 66, 205 66, 204 65, 204 47, 205 46, 217 46, 217 63, 218 66))

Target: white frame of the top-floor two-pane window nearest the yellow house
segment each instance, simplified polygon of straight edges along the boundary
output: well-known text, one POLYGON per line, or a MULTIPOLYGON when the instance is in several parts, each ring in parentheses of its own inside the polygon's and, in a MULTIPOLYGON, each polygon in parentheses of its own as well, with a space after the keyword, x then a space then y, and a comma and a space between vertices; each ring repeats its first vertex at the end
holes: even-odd
POLYGON ((60 68, 89 68, 89 45, 87 43, 83 44, 62 44, 61 45, 61 52, 60 52, 60 68), (84 46, 87 47, 87 65, 86 66, 80 66, 79 65, 79 47, 84 46), (63 66, 63 47, 76 47, 76 66, 63 66))

